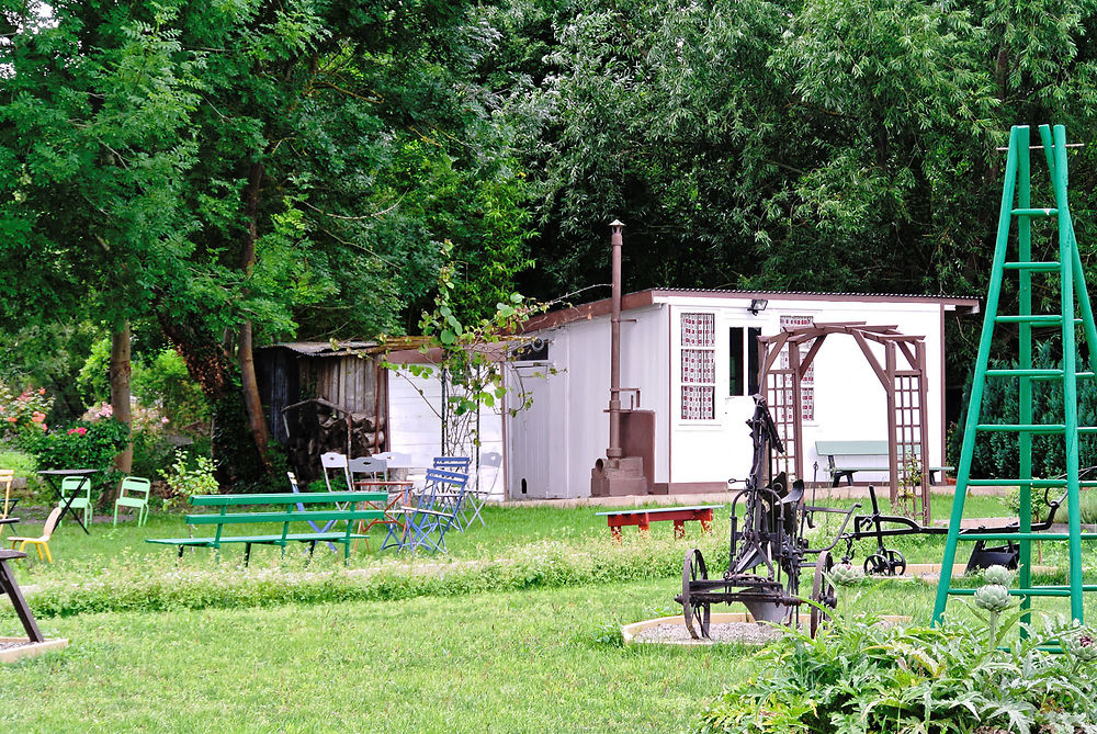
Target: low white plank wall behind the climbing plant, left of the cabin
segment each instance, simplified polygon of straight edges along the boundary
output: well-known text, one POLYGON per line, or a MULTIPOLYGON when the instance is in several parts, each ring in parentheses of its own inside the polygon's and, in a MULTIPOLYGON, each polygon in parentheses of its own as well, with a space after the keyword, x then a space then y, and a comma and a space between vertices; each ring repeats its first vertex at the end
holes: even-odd
MULTIPOLYGON (((442 455, 442 382, 438 374, 417 377, 406 370, 388 371, 388 441, 392 451, 408 454, 411 465, 426 468, 442 455)), ((480 409, 480 456, 502 453, 502 416, 498 409, 480 409)), ((475 447, 464 455, 475 458, 475 447)), ((479 486, 494 499, 504 497, 502 468, 480 466, 479 486)))

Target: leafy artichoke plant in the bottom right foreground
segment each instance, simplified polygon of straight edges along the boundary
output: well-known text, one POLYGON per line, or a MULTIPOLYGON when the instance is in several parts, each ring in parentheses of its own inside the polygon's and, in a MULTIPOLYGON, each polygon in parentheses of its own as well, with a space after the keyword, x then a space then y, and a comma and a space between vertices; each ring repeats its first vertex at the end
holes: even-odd
POLYGON ((790 632, 758 654, 759 674, 725 691, 701 731, 1097 732, 1093 635, 1058 622, 1000 651, 1009 626, 988 645, 987 629, 972 624, 902 629, 836 616, 815 640, 790 632), (1048 644, 1066 652, 1039 650, 1048 644))

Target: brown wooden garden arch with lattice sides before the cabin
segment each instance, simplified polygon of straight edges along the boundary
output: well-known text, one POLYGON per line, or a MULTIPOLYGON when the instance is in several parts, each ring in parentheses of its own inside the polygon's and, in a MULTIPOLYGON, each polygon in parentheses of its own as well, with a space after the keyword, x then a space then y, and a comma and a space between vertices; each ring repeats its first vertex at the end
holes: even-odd
POLYGON ((928 524, 928 460, 924 451, 929 445, 924 416, 927 399, 926 343, 924 337, 900 334, 895 326, 867 326, 864 321, 814 324, 784 327, 773 336, 758 337, 759 384, 785 448, 784 455, 774 458, 772 471, 774 474, 787 472, 790 482, 804 476, 801 381, 823 342, 833 335, 853 338, 887 395, 887 468, 892 506, 898 500, 901 482, 917 484, 920 487, 923 522, 928 524), (883 363, 873 353, 870 342, 883 347, 883 363), (785 348, 789 364, 777 366, 785 348), (918 476, 908 477, 912 471, 918 476))

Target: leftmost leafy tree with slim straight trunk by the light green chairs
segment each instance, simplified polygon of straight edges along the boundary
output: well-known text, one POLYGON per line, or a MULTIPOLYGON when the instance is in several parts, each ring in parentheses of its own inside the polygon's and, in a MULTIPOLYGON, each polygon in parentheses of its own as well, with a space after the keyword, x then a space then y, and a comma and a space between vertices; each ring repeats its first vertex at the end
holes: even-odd
POLYGON ((188 250, 177 182, 194 151, 194 64, 180 60, 170 3, 9 1, 0 15, 0 263, 20 273, 0 323, 104 324, 114 415, 128 424, 129 319, 188 250))

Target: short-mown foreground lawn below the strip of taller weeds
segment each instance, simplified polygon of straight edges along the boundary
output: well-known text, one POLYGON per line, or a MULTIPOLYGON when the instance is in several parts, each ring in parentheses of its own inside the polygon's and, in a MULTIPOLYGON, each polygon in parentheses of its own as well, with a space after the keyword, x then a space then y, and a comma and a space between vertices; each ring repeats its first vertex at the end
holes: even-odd
POLYGON ((665 583, 397 603, 87 614, 4 668, 0 719, 63 731, 685 731, 744 675, 738 648, 624 648, 665 583))

